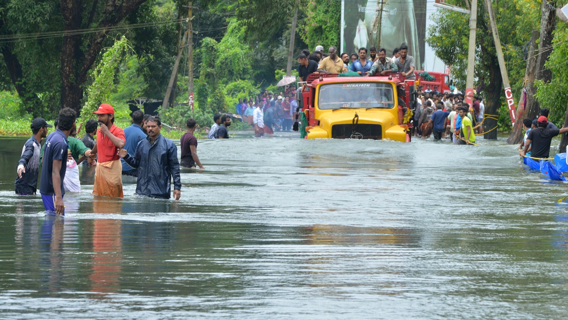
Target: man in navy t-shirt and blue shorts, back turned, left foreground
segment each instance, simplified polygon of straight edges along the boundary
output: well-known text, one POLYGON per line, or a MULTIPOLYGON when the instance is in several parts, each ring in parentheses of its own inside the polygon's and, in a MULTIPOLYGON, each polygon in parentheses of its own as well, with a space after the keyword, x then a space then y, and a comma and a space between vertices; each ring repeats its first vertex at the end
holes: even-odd
POLYGON ((63 180, 67 168, 67 149, 69 148, 67 138, 75 128, 76 117, 77 114, 73 109, 61 109, 57 130, 49 134, 45 140, 39 192, 45 211, 51 215, 65 215, 63 180))

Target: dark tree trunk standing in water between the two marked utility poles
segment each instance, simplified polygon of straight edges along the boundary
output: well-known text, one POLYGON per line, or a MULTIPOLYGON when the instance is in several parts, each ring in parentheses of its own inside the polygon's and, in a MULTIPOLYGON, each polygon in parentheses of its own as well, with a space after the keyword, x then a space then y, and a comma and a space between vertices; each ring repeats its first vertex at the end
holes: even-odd
MULTIPOLYGON (((499 107, 501 106, 501 93, 503 88, 503 77, 499 69, 499 63, 496 56, 491 56, 491 65, 489 67, 489 85, 485 89, 485 97, 487 103, 485 104, 485 114, 499 114, 499 107)), ((486 118, 483 122, 483 135, 485 139, 497 139, 497 129, 492 130, 497 126, 497 120, 486 118)))

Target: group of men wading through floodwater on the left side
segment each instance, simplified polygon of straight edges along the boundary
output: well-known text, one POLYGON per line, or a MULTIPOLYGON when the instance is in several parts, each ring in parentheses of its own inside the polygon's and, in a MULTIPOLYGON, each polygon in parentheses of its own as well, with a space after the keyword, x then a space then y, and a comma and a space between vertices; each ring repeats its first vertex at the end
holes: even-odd
MULTIPOLYGON (((180 139, 181 160, 178 160, 176 144, 160 134, 159 117, 134 111, 132 125, 123 130, 114 124, 111 105, 103 103, 94 114, 97 120, 85 123, 82 139, 77 138, 81 128, 76 127, 77 114, 72 109, 61 109, 53 126, 43 118, 32 120, 32 136, 24 144, 16 169, 16 194, 37 193, 37 177, 42 167, 39 193, 45 210, 53 215, 64 215, 65 192, 81 191, 78 165, 83 164, 95 166, 95 196, 124 197, 122 176, 133 176, 136 177, 136 194, 166 199, 172 195, 170 182, 173 179, 173 197, 178 200, 181 196, 180 164, 190 169, 204 168, 197 155, 194 119, 187 119, 186 132, 180 139), (51 127, 56 130, 48 135, 51 127)), ((221 128, 218 132, 222 132, 221 128)), ((225 138, 228 138, 226 127, 225 138)))

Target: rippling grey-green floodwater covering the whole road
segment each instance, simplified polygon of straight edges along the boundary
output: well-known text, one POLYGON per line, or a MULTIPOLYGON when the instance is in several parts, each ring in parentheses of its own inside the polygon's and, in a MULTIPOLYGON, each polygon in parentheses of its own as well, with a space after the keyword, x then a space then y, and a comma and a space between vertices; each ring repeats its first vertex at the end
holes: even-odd
POLYGON ((0 139, 0 318, 562 319, 566 185, 503 137, 202 140, 179 201, 15 196, 0 139))

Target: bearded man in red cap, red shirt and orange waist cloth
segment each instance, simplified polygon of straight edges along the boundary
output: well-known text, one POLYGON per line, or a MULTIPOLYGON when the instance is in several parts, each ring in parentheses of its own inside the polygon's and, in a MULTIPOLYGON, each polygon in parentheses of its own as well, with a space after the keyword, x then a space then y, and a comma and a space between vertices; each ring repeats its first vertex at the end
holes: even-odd
POLYGON ((124 131, 114 125, 114 108, 111 105, 103 103, 94 114, 97 114, 101 127, 97 130, 97 144, 89 155, 91 165, 95 161, 97 164, 93 194, 122 198, 122 163, 116 152, 126 143, 124 131), (97 153, 98 159, 95 160, 97 153))

